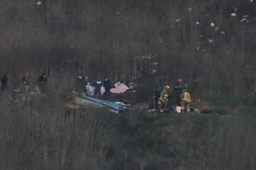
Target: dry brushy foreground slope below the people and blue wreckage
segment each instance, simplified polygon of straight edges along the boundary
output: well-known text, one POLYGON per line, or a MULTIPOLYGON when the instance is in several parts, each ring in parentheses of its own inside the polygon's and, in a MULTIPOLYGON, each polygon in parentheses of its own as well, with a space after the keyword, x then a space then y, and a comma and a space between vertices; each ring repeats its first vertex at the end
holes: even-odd
POLYGON ((146 108, 117 114, 35 99, 1 102, 0 169, 256 167, 255 108, 233 115, 155 115, 146 108))

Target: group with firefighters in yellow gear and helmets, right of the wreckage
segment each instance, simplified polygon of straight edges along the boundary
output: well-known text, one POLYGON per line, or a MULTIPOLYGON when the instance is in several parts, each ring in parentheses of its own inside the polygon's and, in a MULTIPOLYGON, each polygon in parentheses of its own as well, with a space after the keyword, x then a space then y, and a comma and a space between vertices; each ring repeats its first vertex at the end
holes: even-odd
POLYGON ((175 106, 176 113, 190 112, 191 95, 187 91, 187 87, 183 84, 182 79, 176 81, 174 90, 171 91, 169 85, 164 86, 160 90, 159 86, 154 90, 154 108, 160 113, 171 111, 172 106, 175 106))

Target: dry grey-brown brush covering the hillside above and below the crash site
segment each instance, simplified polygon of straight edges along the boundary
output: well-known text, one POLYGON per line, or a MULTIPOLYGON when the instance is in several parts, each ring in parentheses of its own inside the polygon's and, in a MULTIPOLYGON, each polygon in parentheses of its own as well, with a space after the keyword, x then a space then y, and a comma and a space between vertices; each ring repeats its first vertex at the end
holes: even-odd
POLYGON ((0 74, 9 77, 0 94, 0 169, 256 169, 255 108, 228 118, 155 118, 63 106, 79 74, 143 86, 182 78, 195 96, 249 94, 256 1, 37 2, 0 2, 0 74), (31 89, 48 74, 46 96, 11 102, 24 72, 31 89))

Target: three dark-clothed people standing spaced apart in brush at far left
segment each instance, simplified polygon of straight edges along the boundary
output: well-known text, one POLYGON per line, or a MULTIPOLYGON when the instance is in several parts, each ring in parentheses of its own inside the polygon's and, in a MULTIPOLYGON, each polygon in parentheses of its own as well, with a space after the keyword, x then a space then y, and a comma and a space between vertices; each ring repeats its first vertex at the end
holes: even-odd
MULTIPOLYGON (((21 83, 23 84, 24 88, 26 90, 29 89, 29 79, 30 79, 30 76, 29 76, 29 73, 26 72, 25 74, 23 74, 23 77, 21 79, 21 83)), ((43 74, 41 74, 38 78, 38 83, 40 85, 45 86, 47 84, 47 81, 48 81, 48 76, 46 74, 46 72, 43 72, 43 74)), ((3 77, 1 77, 1 89, 4 90, 8 87, 8 84, 9 84, 9 79, 7 77, 6 74, 4 74, 3 77)))

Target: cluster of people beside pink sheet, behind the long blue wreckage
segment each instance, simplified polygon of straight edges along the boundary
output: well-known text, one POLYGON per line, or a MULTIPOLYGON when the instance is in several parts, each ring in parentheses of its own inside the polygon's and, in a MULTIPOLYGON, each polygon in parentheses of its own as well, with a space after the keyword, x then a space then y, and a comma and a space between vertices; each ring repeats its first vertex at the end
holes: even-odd
POLYGON ((111 82, 107 77, 105 77, 103 82, 98 80, 90 84, 87 76, 78 76, 78 80, 75 84, 75 90, 80 93, 85 93, 87 96, 101 97, 104 95, 108 98, 110 96, 110 89, 111 82))

